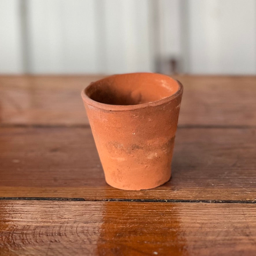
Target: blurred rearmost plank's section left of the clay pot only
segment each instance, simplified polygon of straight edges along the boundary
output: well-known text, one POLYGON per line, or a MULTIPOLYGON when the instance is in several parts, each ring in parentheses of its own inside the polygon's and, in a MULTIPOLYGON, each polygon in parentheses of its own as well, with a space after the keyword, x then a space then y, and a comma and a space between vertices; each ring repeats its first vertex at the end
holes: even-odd
POLYGON ((102 76, 0 76, 0 122, 88 124, 81 90, 102 76))

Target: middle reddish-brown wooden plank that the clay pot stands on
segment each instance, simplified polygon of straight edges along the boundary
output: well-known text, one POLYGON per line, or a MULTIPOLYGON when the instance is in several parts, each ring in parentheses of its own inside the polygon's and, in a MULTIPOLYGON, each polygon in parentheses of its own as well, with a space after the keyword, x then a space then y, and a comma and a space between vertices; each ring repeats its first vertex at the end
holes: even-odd
POLYGON ((1 197, 256 200, 255 128, 178 129, 172 178, 151 190, 105 183, 90 128, 0 128, 1 197))

